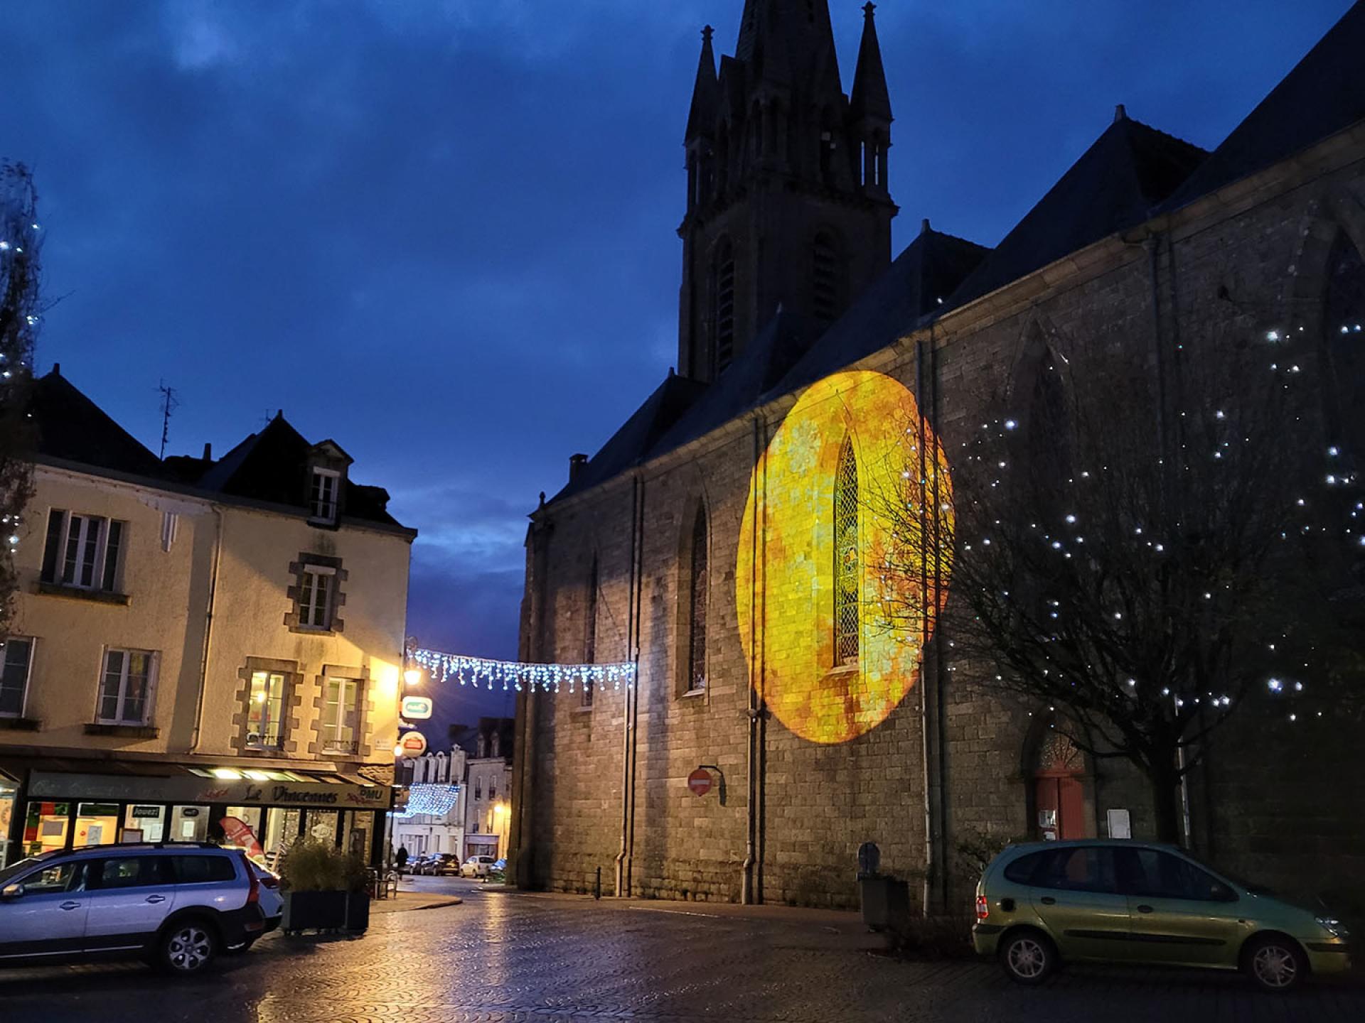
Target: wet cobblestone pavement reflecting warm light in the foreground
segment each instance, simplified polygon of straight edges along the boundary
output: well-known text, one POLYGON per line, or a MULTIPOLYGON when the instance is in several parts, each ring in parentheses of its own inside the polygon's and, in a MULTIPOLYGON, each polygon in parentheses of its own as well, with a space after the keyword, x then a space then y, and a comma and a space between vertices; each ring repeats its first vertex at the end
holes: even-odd
MULTIPOLYGON (((442 885, 444 887, 444 885, 442 885)), ((0 973, 0 1019, 100 1023, 844 1023, 1362 1020, 1365 985, 1287 998, 1237 977, 1073 967, 1041 989, 992 963, 902 963, 853 918, 459 891, 359 940, 270 934, 212 975, 132 964, 0 973)))

